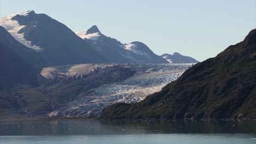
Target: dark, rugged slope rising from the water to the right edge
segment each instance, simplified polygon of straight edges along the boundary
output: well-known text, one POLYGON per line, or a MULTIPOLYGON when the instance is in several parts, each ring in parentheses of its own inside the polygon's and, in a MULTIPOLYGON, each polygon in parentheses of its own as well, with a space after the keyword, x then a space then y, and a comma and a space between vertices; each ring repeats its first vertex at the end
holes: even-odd
POLYGON ((256 118, 256 29, 241 43, 195 64, 135 104, 117 103, 102 119, 256 118))

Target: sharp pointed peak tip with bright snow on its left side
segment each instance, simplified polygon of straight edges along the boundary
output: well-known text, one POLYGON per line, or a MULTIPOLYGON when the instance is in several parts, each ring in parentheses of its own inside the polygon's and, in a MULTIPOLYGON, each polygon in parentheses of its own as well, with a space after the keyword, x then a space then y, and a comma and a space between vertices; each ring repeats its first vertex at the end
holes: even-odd
POLYGON ((89 40, 97 40, 98 37, 101 36, 101 32, 98 30, 97 26, 92 26, 87 31, 79 31, 76 32, 80 38, 82 39, 89 39, 89 40))

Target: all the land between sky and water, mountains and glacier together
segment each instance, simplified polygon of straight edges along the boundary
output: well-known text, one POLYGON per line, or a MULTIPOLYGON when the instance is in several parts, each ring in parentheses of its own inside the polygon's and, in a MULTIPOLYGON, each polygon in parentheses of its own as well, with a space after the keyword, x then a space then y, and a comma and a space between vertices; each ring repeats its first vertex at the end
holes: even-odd
POLYGON ((0 33, 3 116, 97 117, 113 104, 101 119, 256 117, 255 29, 200 63, 33 10, 0 18, 0 33))

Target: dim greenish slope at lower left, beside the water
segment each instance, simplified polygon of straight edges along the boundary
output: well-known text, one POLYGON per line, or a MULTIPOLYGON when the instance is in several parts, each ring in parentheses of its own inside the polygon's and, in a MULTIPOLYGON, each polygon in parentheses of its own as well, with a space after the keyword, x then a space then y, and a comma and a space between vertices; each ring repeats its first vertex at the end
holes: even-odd
POLYGON ((0 115, 2 117, 34 116, 40 111, 49 97, 36 88, 19 85, 0 91, 0 115))

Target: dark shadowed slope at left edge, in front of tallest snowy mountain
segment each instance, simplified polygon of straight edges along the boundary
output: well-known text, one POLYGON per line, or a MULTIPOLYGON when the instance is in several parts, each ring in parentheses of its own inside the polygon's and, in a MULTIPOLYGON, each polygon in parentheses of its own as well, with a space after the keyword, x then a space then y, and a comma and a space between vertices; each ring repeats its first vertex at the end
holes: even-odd
POLYGON ((43 58, 20 44, 0 26, 0 89, 18 84, 37 85, 43 58))

